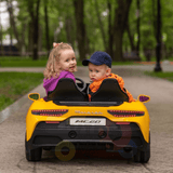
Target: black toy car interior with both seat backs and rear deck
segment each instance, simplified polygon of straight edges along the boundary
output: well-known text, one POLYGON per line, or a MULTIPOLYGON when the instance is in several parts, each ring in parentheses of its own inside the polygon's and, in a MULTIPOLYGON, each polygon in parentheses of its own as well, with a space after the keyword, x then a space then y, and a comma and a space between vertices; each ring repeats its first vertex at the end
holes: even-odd
POLYGON ((80 78, 75 82, 70 78, 59 79, 54 91, 48 93, 46 101, 53 101, 57 105, 79 105, 79 106, 111 106, 128 102, 129 97, 123 92, 116 79, 105 79, 97 92, 93 93, 89 102, 90 83, 85 83, 80 78))

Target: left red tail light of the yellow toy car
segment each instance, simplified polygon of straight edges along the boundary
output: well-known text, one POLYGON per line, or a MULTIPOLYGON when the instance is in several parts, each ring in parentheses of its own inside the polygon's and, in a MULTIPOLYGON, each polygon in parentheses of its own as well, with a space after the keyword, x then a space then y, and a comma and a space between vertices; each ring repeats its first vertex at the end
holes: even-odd
POLYGON ((42 110, 31 110, 32 115, 46 116, 46 117, 61 117, 68 112, 68 109, 42 109, 42 110))

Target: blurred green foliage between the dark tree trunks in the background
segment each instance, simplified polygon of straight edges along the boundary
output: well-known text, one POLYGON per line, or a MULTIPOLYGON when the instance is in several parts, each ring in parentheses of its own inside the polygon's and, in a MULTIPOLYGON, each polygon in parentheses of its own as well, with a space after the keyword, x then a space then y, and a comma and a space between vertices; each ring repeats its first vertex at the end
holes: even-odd
MULTIPOLYGON (((23 51, 29 52, 30 50, 30 22, 31 17, 28 12, 29 0, 16 0, 18 12, 15 14, 15 22, 18 31, 18 37, 24 41, 23 51)), ((36 5, 37 0, 32 0, 36 5)), ((77 24, 75 19, 75 0, 43 0, 40 1, 39 10, 39 51, 46 52, 46 37, 45 37, 45 19, 44 19, 44 6, 48 8, 49 16, 49 37, 50 46, 52 42, 69 42, 78 51, 77 48, 77 24)), ((115 12, 118 8, 117 0, 83 0, 84 2, 84 25, 86 30, 86 55, 92 54, 94 51, 107 51, 104 45, 103 32, 105 35, 106 44, 108 45, 109 40, 109 26, 108 26, 108 11, 107 2, 111 4, 111 25, 115 25, 115 12), (96 8, 97 2, 97 8, 96 8), (97 14, 98 12, 98 14, 97 14), (101 17, 101 23, 98 19, 101 17), (103 29, 103 30, 102 30, 103 29)), ((162 18, 162 36, 163 37, 163 58, 172 56, 172 40, 173 40, 173 26, 172 26, 172 0, 161 0, 161 18, 162 18)), ((129 25, 131 35, 136 45, 136 0, 132 1, 130 13, 129 13, 129 25)), ((152 52, 151 56, 155 56, 156 32, 157 32, 157 0, 141 0, 141 53, 146 50, 152 52)), ((11 28, 3 30, 3 35, 8 35, 12 31, 11 28)), ((115 30, 114 30, 115 31, 115 30)), ((12 35, 14 38, 14 34, 12 35)), ((127 31, 123 35, 122 49, 125 51, 131 50, 131 42, 127 31)), ((84 49, 84 48, 83 48, 84 49)))

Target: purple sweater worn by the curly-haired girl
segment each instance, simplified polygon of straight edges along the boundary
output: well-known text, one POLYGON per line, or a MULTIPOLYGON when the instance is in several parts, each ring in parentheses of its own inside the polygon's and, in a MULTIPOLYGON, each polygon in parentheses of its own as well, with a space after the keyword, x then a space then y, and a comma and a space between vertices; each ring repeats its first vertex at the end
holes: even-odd
POLYGON ((46 95, 49 91, 53 91, 56 88, 58 80, 62 78, 71 78, 74 81, 76 81, 74 74, 69 71, 62 71, 58 78, 52 77, 51 79, 43 79, 43 88, 45 89, 46 95))

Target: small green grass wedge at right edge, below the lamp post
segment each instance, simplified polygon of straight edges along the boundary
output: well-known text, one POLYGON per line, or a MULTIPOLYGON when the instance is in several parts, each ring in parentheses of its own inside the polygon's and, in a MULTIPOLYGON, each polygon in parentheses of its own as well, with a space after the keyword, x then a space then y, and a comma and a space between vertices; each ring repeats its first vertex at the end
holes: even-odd
POLYGON ((146 75, 151 76, 151 77, 157 77, 161 79, 165 79, 169 81, 173 82, 173 72, 150 72, 150 71, 145 71, 146 75))

